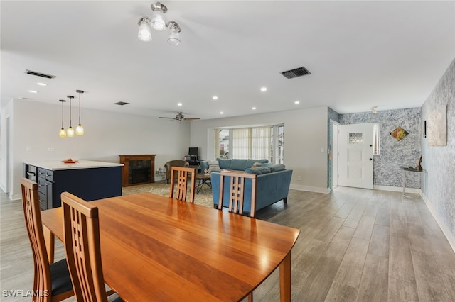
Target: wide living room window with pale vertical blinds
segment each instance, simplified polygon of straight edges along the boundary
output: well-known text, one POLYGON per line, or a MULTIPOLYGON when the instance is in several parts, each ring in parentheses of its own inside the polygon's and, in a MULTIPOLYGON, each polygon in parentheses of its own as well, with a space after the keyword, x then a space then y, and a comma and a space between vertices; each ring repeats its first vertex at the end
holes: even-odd
POLYGON ((284 125, 215 129, 215 154, 220 158, 283 163, 284 125), (274 156, 275 155, 275 156, 274 156))

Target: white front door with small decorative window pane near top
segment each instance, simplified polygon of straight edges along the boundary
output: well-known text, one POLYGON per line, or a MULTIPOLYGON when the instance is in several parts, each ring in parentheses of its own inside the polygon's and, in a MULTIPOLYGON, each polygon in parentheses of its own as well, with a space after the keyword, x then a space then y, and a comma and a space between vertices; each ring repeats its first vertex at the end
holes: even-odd
POLYGON ((338 125, 338 186, 373 189, 373 124, 338 125))

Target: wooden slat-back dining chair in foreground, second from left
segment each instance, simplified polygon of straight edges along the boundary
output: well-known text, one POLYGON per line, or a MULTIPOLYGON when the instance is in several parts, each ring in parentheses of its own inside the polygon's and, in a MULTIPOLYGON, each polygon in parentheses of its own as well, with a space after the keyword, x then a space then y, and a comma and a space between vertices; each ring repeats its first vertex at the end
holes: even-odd
POLYGON ((107 302, 107 295, 114 291, 105 291, 98 208, 68 192, 63 192, 61 199, 66 259, 76 300, 107 302))

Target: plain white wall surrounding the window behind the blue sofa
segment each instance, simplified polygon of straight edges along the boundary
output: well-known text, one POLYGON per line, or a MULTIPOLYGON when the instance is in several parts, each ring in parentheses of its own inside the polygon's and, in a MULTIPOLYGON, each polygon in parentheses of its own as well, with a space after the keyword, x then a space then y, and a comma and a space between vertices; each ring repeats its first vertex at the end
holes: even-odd
POLYGON ((193 121, 191 146, 200 148, 203 160, 214 160, 213 128, 284 123, 284 164, 293 170, 291 189, 327 193, 327 114, 327 107, 319 107, 193 121))

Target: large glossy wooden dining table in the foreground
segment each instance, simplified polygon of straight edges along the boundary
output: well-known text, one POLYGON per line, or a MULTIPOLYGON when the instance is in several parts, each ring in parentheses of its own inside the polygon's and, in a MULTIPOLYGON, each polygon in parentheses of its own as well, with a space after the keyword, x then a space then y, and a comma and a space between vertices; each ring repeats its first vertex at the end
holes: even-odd
MULTIPOLYGON (((150 193, 90 203, 105 282, 124 301, 241 301, 277 267, 281 301, 291 301, 298 229, 150 193)), ((41 218, 53 251, 53 236, 64 240, 62 208, 41 218)))

